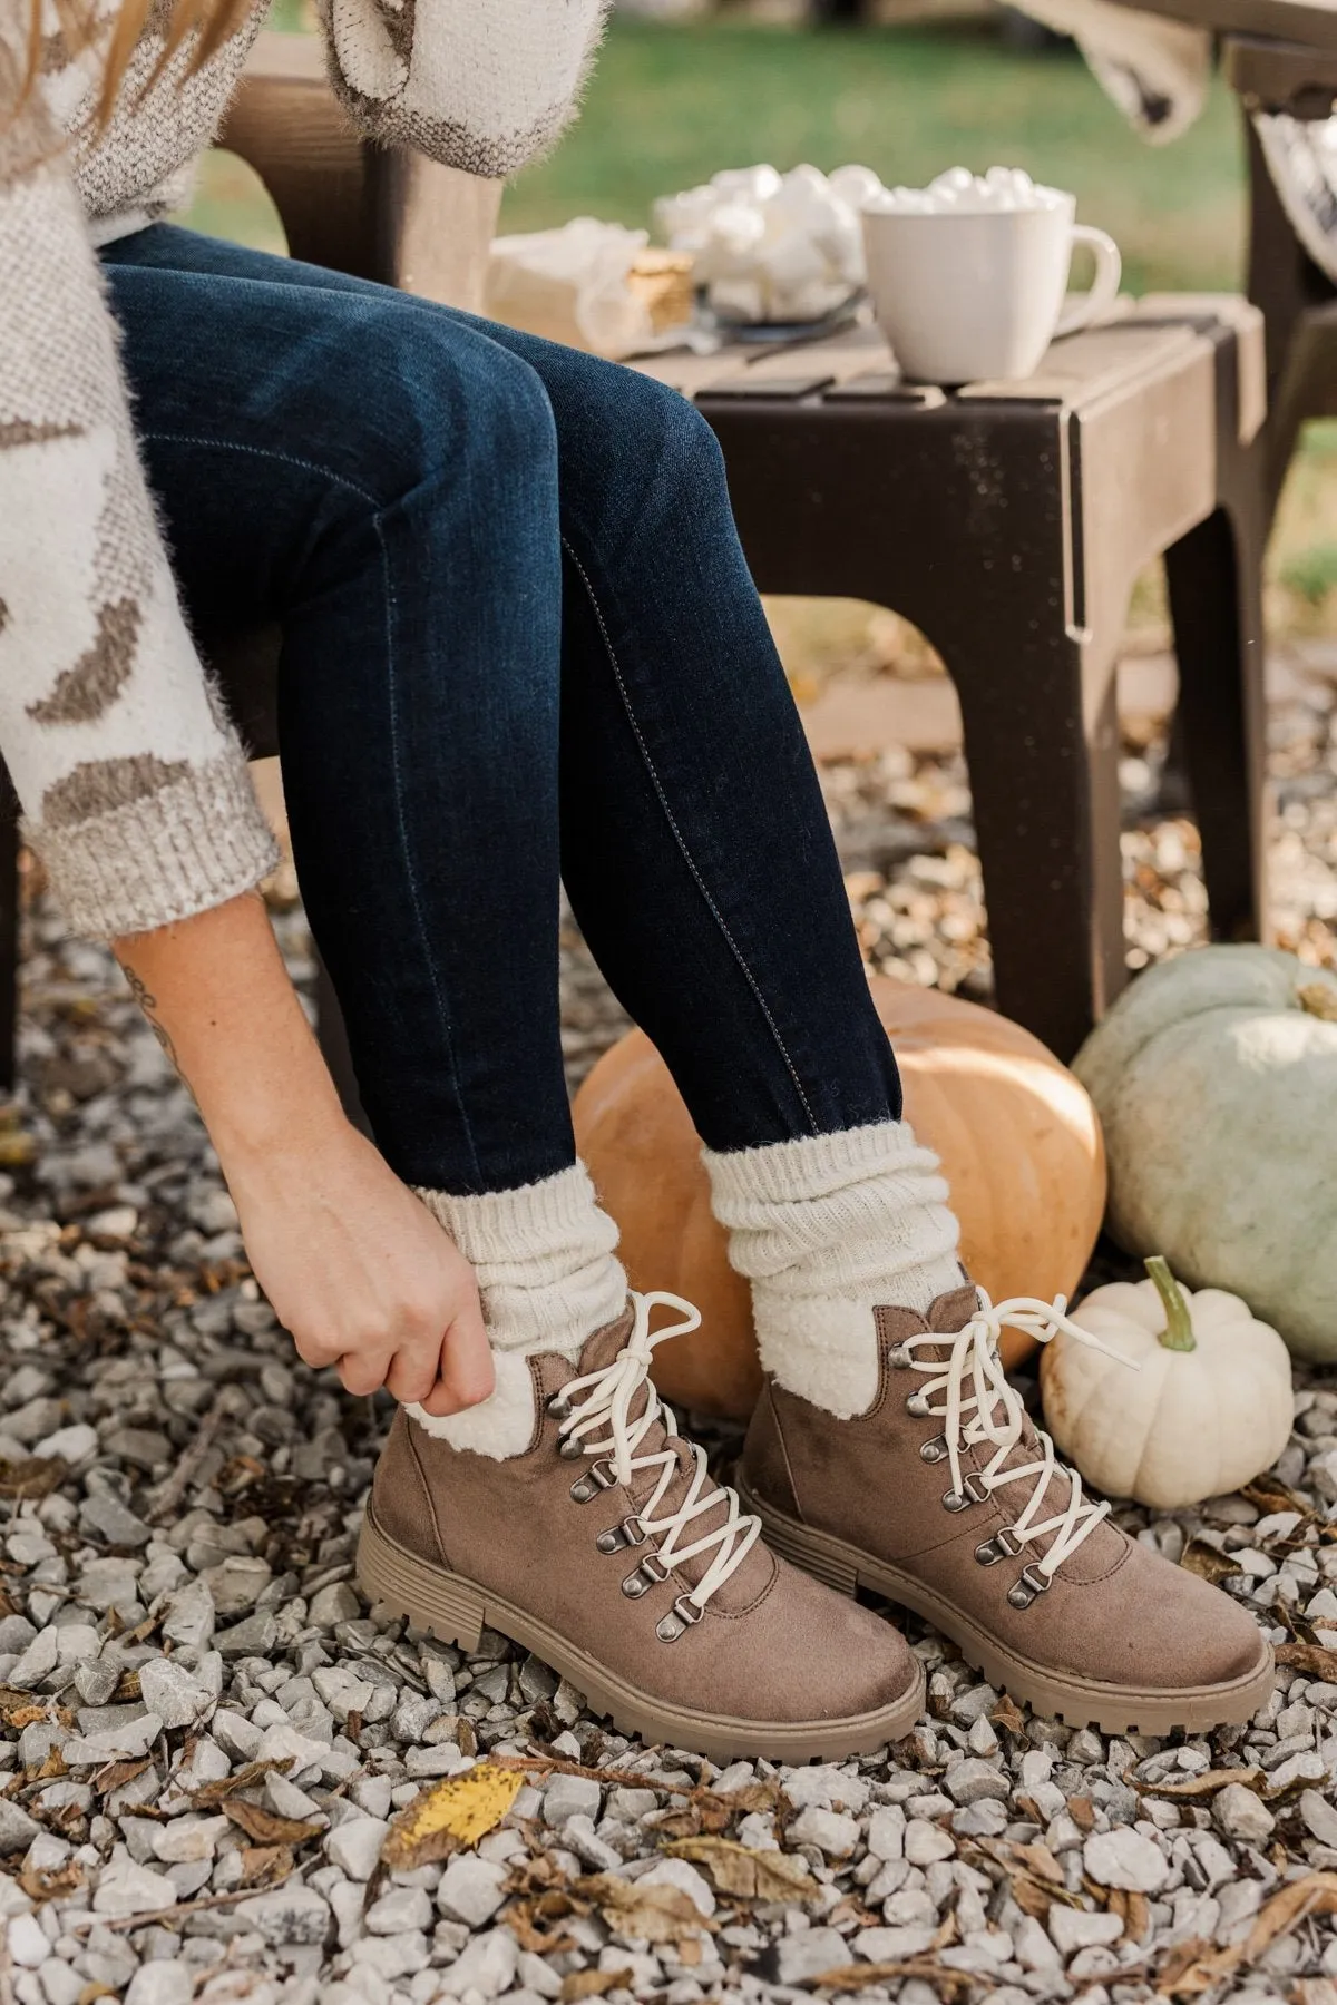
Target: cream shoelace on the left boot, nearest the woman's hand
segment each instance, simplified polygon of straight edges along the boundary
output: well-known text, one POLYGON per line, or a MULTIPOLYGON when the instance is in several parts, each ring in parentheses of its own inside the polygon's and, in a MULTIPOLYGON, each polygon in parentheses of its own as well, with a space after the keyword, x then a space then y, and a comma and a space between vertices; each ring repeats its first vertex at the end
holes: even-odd
MULTIPOLYGON (((625 1520, 621 1532, 625 1534, 631 1528, 633 1534, 661 1534, 655 1558, 665 1574, 678 1560, 692 1560, 702 1552, 710 1552, 712 1546, 718 1548, 700 1582, 674 1604, 680 1626, 674 1628, 670 1616, 657 1626, 657 1634, 665 1642, 672 1642, 682 1634, 682 1628, 700 1620, 712 1594, 744 1564, 762 1536, 762 1520, 752 1512, 740 1512, 734 1490, 724 1484, 712 1484, 706 1468, 706 1450, 694 1442, 682 1442, 696 1464, 682 1504, 665 1512, 663 1518, 655 1516, 680 1472, 680 1454, 676 1448, 661 1448, 655 1454, 637 1456, 635 1450, 657 1422, 663 1424, 670 1440, 682 1438, 678 1436, 674 1410, 663 1406, 653 1387, 649 1359, 657 1343, 667 1343, 670 1337, 684 1337, 688 1331, 700 1329, 702 1311, 694 1309, 682 1295, 670 1293, 637 1295, 631 1289, 629 1301, 633 1305, 633 1321, 623 1349, 599 1371, 587 1371, 583 1377, 569 1379, 557 1397, 549 1401, 549 1410, 565 1416, 559 1434, 563 1444, 573 1444, 565 1450, 567 1454, 605 1458, 601 1464, 595 1462, 595 1468, 589 1472, 591 1476, 597 1476, 597 1470, 603 1466, 611 1482, 627 1484, 637 1472, 659 1470, 659 1482, 649 1502, 635 1512, 635 1520, 625 1520), (682 1321, 665 1323, 661 1329, 651 1331, 649 1315, 651 1309, 659 1307, 682 1311, 682 1321), (645 1385, 645 1412, 637 1420, 629 1420, 631 1401, 641 1385, 645 1385), (585 1395, 583 1399, 579 1397, 581 1393, 585 1395), (605 1436, 599 1436, 601 1428, 607 1428, 605 1436), (704 1518, 708 1512, 718 1516, 720 1510, 724 1510, 722 1524, 700 1538, 690 1536, 698 1518, 704 1518)), ((603 1486, 599 1484, 599 1488, 603 1486)), ((639 1538, 631 1536, 625 1542, 639 1544, 639 1538)), ((607 1546, 605 1550, 615 1552, 619 1546, 607 1546)))

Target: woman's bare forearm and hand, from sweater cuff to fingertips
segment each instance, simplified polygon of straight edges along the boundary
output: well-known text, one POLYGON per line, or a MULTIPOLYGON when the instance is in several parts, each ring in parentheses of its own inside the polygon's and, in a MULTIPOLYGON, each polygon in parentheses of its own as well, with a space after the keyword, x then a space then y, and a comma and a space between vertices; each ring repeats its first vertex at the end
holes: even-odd
POLYGON ((493 1389, 473 1269, 347 1121, 255 896, 116 940, 218 1151, 255 1277, 311 1365, 429 1414, 493 1389))

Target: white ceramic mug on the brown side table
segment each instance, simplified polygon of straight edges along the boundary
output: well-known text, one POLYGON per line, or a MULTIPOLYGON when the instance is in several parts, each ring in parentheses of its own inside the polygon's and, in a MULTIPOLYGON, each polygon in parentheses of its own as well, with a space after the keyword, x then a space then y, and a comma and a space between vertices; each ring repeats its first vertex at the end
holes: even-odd
POLYGON ((1108 313, 1123 271, 1119 245, 1072 221, 1074 196, 1042 192, 1042 203, 1018 209, 864 209, 868 291, 906 377, 1028 377, 1056 335, 1108 313), (1094 251, 1094 283, 1064 311, 1078 243, 1094 251))

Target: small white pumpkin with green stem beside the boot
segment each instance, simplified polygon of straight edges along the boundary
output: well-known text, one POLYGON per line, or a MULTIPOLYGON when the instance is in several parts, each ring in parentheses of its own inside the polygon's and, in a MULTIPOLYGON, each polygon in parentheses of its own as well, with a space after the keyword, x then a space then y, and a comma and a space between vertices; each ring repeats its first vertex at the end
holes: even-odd
POLYGON ((1062 1333, 1040 1359, 1044 1426, 1092 1488, 1153 1510, 1225 1496, 1271 1468, 1291 1436, 1291 1357, 1269 1323, 1219 1287, 1096 1287, 1068 1315, 1139 1365, 1062 1333))

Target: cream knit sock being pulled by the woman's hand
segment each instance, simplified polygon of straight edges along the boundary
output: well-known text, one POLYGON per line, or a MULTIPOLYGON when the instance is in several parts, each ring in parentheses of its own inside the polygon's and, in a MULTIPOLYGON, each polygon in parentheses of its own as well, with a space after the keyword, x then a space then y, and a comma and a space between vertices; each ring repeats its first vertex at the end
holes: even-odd
POLYGON ((613 1257, 617 1227, 599 1209, 583 1163, 517 1191, 417 1195, 473 1265, 497 1389, 491 1399, 447 1420, 419 1406, 407 1412, 451 1448, 471 1448, 499 1462, 519 1456, 533 1436, 527 1357, 533 1351, 575 1357, 585 1337, 625 1307, 627 1277, 613 1257))

